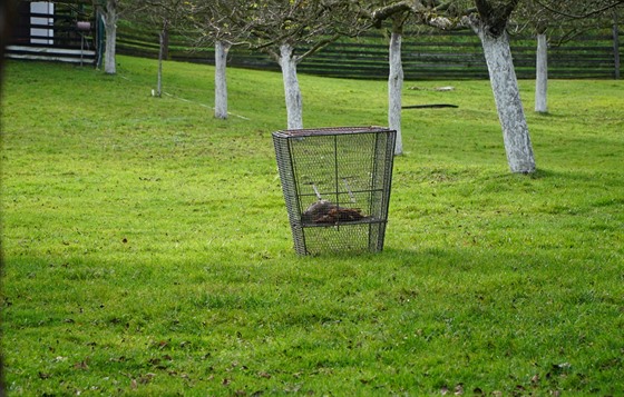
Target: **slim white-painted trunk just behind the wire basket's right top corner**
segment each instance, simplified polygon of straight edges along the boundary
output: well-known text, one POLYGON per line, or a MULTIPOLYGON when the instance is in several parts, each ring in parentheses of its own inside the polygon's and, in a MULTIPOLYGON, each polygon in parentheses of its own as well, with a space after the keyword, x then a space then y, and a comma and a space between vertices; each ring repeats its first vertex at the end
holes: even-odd
POLYGON ((388 126, 397 131, 394 155, 403 153, 401 137, 401 96, 403 89, 403 66, 401 62, 401 33, 390 37, 390 75, 388 77, 388 126))

